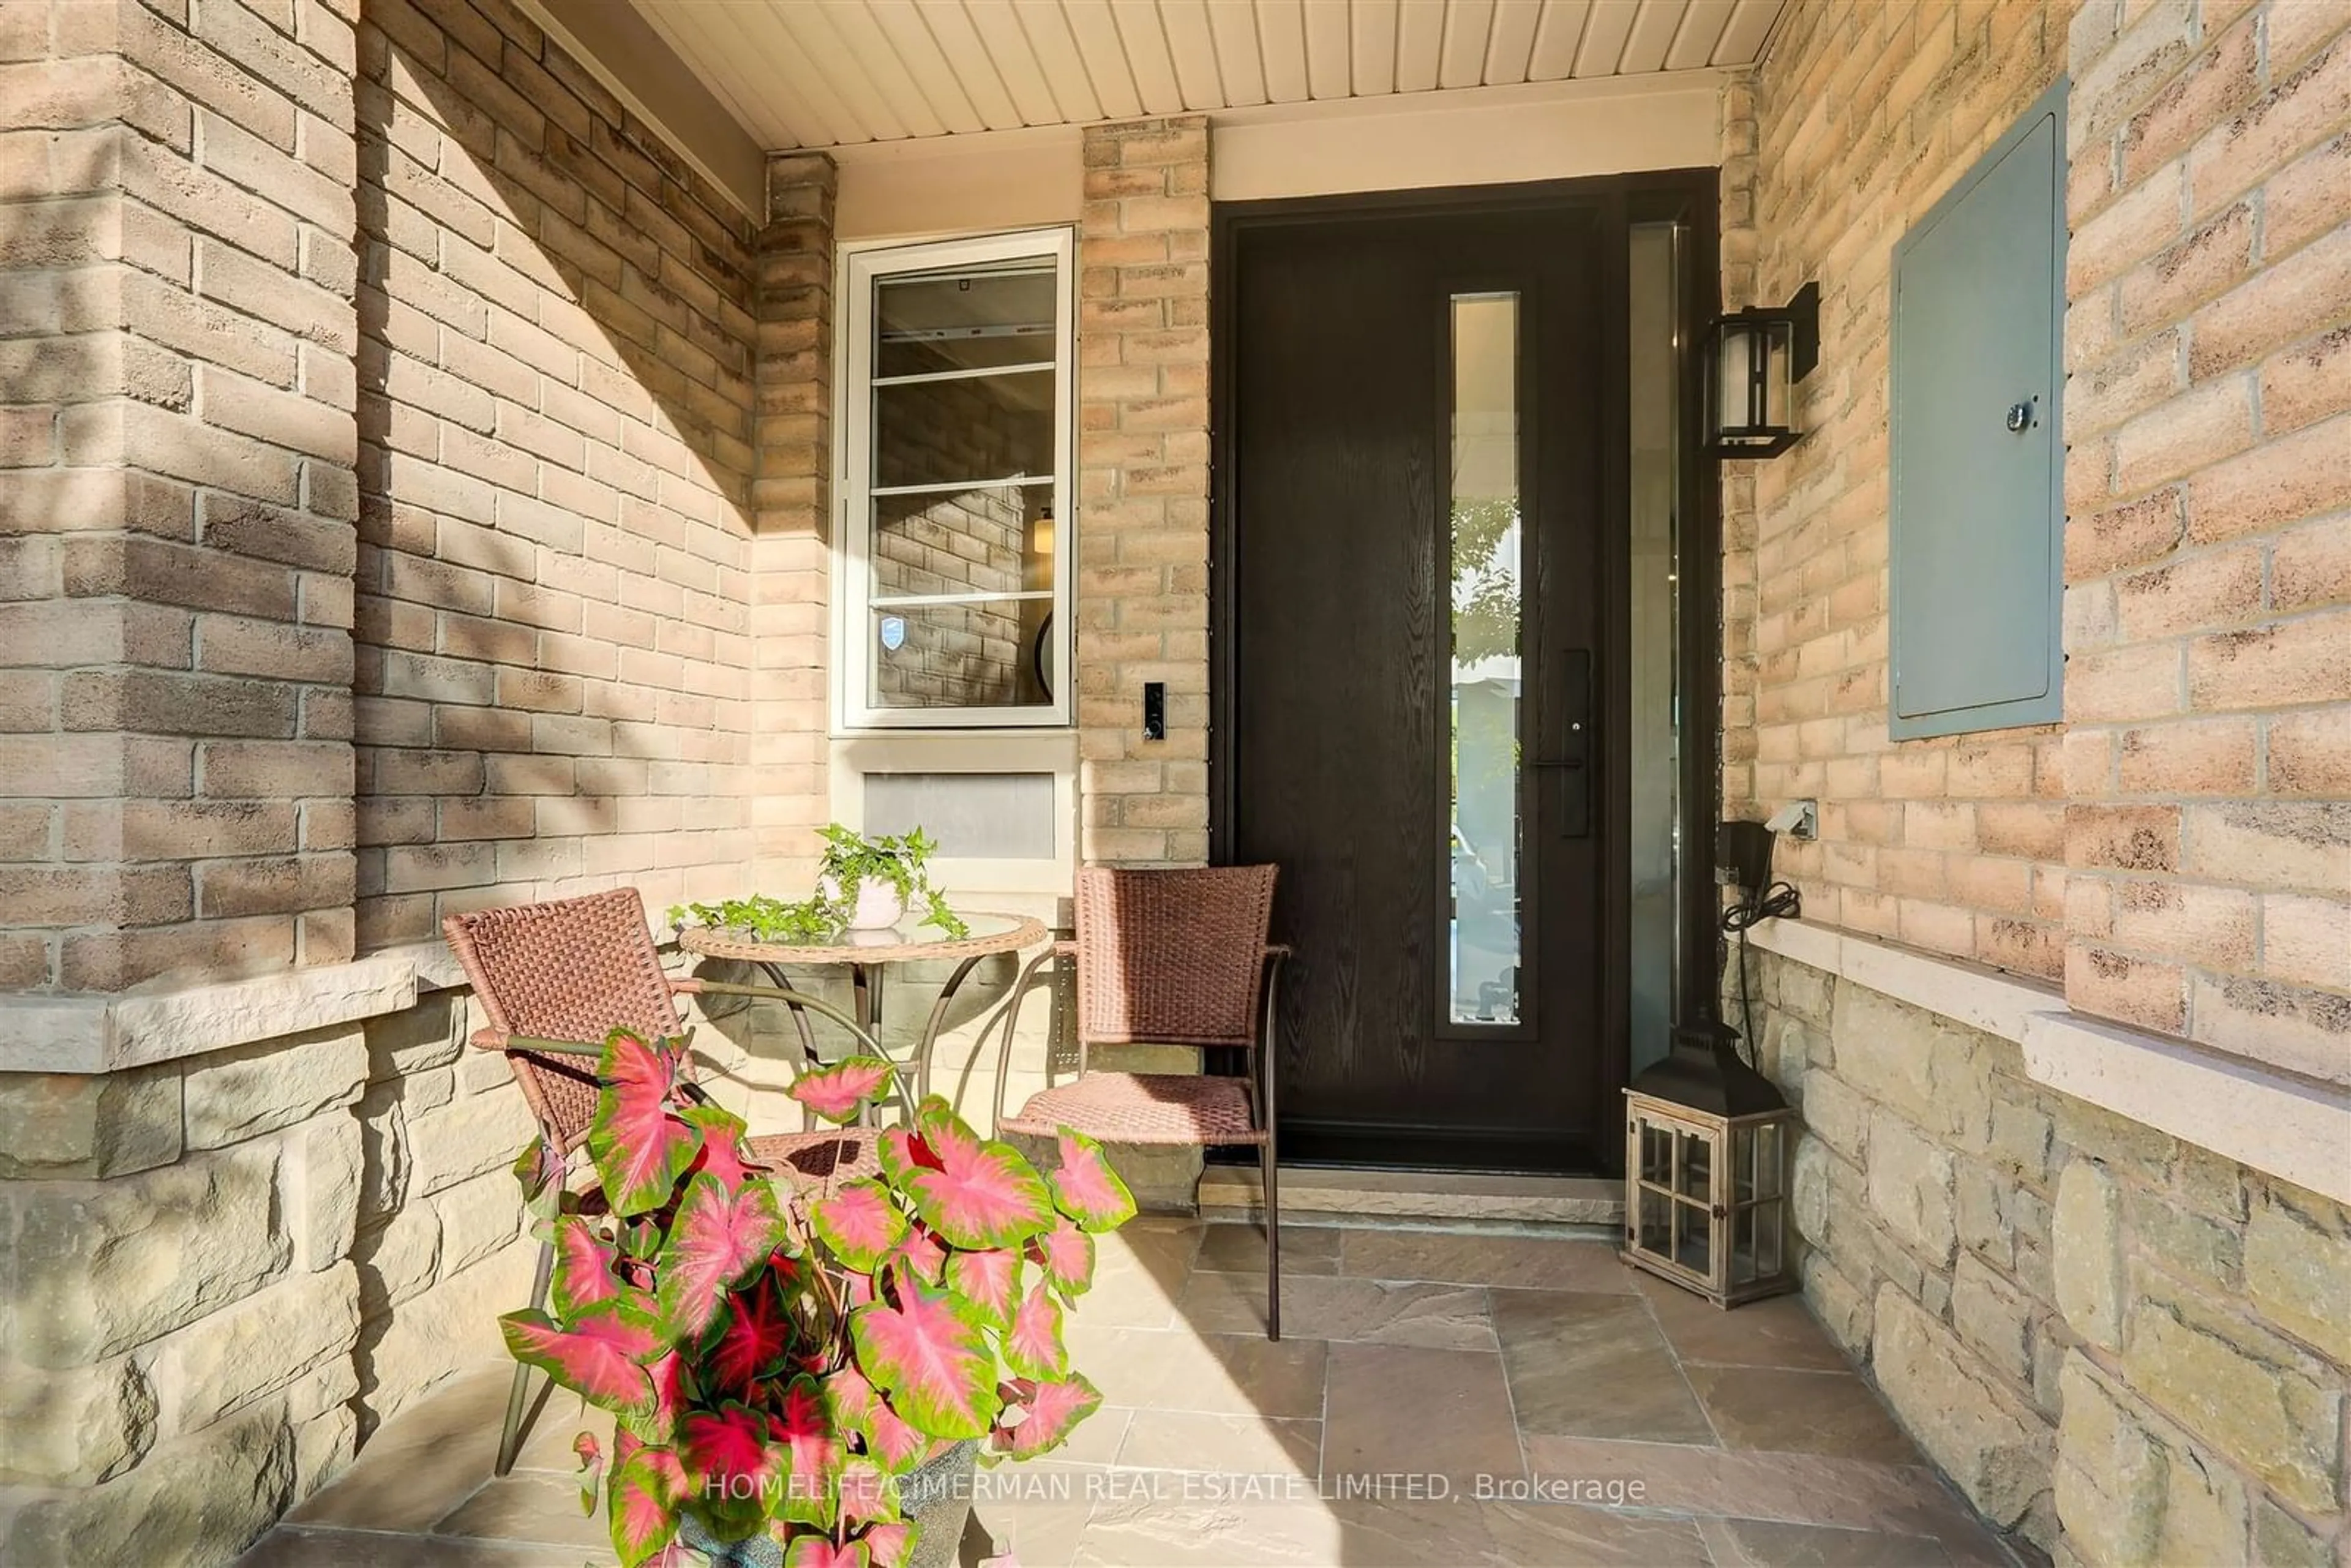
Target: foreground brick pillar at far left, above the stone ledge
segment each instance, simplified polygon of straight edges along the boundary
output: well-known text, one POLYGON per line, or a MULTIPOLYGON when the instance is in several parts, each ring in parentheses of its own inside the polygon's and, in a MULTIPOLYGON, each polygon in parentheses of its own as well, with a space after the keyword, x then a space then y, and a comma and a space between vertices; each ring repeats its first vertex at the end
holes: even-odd
POLYGON ((353 945, 353 24, 0 19, 0 985, 353 945))

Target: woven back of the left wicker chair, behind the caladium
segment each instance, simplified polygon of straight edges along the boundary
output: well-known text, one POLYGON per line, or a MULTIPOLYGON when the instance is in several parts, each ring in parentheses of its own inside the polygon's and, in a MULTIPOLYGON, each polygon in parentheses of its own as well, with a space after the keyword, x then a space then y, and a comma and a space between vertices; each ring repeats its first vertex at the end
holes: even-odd
MULTIPOLYGON (((637 889, 477 910, 442 922, 491 1027, 602 1044, 614 1030, 684 1032, 637 889)), ((508 1051, 522 1098, 569 1154, 595 1119, 595 1063, 508 1051)))

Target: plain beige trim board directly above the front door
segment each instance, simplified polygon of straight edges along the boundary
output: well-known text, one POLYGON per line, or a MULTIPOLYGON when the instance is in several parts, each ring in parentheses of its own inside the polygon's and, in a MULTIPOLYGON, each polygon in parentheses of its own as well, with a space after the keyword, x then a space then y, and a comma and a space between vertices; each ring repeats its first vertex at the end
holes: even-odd
POLYGON ((1211 115, 1220 202, 1695 169, 1721 162, 1733 73, 1669 71, 1211 115))

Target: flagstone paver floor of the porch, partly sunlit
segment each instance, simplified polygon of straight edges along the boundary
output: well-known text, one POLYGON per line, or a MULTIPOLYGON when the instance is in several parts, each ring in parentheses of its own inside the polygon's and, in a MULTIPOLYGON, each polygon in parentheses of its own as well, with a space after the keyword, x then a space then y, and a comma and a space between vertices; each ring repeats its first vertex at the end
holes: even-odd
MULTIPOLYGON (((1105 1396, 1060 1453, 980 1474, 964 1561, 1958 1568, 2015 1559, 1794 1298, 1716 1312, 1587 1239, 1143 1218, 1070 1352, 1105 1396)), ((609 1561, 576 1403, 491 1479, 503 1366, 374 1436, 245 1568, 609 1561)))

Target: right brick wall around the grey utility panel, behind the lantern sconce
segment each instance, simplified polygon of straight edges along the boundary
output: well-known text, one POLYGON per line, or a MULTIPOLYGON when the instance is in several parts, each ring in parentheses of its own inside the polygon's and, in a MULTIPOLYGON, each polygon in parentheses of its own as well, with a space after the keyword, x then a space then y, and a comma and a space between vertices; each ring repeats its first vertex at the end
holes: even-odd
POLYGON ((1886 733, 1888 301, 1895 240, 2064 68, 2067 5, 1796 5, 1726 96, 1723 303, 1820 280, 1806 440, 1723 468, 1723 811, 1820 799, 1780 842, 1810 919, 2055 978, 2052 726, 1886 733))

